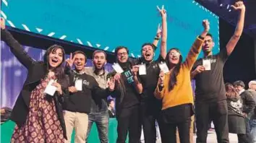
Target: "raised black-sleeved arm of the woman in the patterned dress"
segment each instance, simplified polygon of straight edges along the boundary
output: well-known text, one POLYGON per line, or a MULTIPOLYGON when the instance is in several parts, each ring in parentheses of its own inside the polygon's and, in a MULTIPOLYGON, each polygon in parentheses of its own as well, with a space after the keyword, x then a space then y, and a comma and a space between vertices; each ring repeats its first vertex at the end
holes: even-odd
POLYGON ((25 66, 27 69, 32 66, 35 62, 33 58, 28 56, 27 52, 24 51, 22 45, 15 40, 12 34, 5 28, 5 20, 1 18, 1 39, 10 47, 10 50, 14 56, 20 61, 20 63, 25 66))

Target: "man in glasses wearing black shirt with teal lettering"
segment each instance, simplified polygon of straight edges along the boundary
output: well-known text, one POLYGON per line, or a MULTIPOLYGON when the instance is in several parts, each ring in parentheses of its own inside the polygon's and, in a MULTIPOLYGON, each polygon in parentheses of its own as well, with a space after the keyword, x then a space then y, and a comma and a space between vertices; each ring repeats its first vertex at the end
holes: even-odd
POLYGON ((121 74, 110 73, 109 77, 116 79, 113 97, 116 97, 117 143, 124 143, 129 132, 129 142, 140 142, 140 95, 142 85, 137 75, 134 75, 132 61, 128 58, 128 48, 119 46, 115 50, 118 64, 123 69, 121 74))

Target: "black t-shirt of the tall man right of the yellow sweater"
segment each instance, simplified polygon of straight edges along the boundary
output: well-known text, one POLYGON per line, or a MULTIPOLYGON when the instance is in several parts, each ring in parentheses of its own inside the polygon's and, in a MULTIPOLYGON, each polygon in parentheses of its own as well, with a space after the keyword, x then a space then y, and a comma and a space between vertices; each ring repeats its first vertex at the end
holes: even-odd
MULTIPOLYGON (((226 48, 220 53, 206 57, 210 59, 210 71, 202 71, 195 76, 195 102, 216 102, 226 99, 226 90, 223 81, 223 66, 229 56, 226 48)), ((202 58, 198 59, 192 70, 202 65, 202 58)))

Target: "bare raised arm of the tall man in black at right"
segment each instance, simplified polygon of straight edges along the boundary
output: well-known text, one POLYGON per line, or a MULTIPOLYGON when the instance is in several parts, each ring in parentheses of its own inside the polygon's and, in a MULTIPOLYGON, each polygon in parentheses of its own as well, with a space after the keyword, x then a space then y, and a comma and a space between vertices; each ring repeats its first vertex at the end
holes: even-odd
POLYGON ((242 35, 243 29, 244 29, 244 14, 245 14, 245 6, 243 1, 237 1, 231 7, 233 7, 236 11, 239 12, 239 17, 238 17, 234 35, 232 35, 231 39, 229 40, 229 43, 226 44, 226 51, 228 56, 232 53, 232 51, 234 51, 236 43, 238 42, 240 36, 242 35))

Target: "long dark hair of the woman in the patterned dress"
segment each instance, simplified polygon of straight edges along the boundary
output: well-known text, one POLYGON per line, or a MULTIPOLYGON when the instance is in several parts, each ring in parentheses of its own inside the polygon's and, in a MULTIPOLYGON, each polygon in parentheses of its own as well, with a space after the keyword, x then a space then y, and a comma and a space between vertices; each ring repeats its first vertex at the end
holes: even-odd
POLYGON ((62 58, 61 64, 59 64, 59 66, 54 68, 53 71, 54 71, 54 74, 56 75, 57 79, 64 79, 65 74, 64 74, 63 63, 65 61, 65 51, 61 45, 51 45, 51 47, 49 47, 46 50, 46 53, 43 56, 43 62, 47 65, 47 70, 49 70, 49 64, 48 64, 49 55, 50 55, 50 53, 56 51, 57 49, 61 49, 63 58, 62 58))

